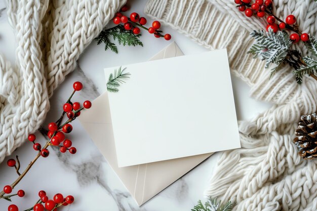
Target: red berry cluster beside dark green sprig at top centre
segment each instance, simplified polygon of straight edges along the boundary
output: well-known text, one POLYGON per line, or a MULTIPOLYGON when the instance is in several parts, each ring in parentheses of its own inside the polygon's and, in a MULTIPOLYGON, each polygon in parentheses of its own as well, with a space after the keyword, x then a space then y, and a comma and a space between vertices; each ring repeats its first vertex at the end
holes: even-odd
POLYGON ((161 23, 159 21, 153 21, 152 26, 146 28, 144 25, 146 24, 147 20, 144 17, 140 17, 138 13, 131 13, 130 18, 123 15, 122 12, 126 12, 129 10, 127 5, 123 6, 120 12, 115 13, 113 20, 114 24, 124 24, 124 28, 126 30, 132 30, 134 34, 140 33, 140 28, 147 30, 150 34, 154 34, 155 37, 164 37, 166 40, 170 40, 172 37, 170 34, 161 34, 160 27, 161 23))

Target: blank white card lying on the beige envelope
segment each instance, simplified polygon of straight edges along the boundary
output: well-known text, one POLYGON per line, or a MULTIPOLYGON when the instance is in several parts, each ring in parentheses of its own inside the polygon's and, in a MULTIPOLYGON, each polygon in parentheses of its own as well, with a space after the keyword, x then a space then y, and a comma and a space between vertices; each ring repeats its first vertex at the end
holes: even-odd
POLYGON ((225 49, 125 67, 108 93, 118 166, 240 147, 225 49))

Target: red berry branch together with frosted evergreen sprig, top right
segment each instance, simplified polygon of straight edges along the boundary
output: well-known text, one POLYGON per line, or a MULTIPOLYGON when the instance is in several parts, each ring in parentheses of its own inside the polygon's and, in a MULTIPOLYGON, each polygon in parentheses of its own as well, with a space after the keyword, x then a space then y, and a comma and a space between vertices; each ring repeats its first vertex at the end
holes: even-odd
POLYGON ((304 74, 317 80, 317 76, 314 74, 317 71, 317 41, 313 36, 301 32, 294 15, 288 15, 284 22, 273 14, 272 0, 256 0, 253 4, 251 4, 252 0, 234 0, 234 2, 241 12, 245 12, 247 17, 256 15, 263 18, 267 15, 267 33, 264 31, 251 33, 251 36, 256 39, 256 44, 251 47, 248 53, 254 54, 254 58, 266 60, 265 68, 275 64, 271 73, 279 70, 282 64, 292 66, 295 69, 293 74, 299 84, 302 83, 304 74), (276 21, 280 22, 279 25, 275 23, 276 21), (284 29, 289 29, 295 33, 289 35, 284 29), (300 40, 304 42, 308 52, 316 59, 309 56, 303 57, 298 50, 290 49, 292 44, 296 44, 300 40))

